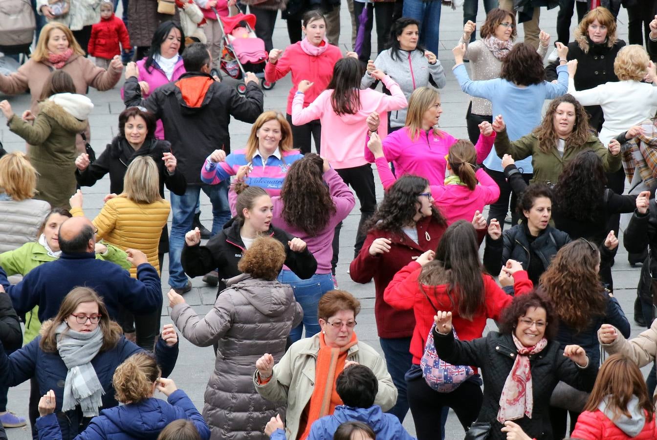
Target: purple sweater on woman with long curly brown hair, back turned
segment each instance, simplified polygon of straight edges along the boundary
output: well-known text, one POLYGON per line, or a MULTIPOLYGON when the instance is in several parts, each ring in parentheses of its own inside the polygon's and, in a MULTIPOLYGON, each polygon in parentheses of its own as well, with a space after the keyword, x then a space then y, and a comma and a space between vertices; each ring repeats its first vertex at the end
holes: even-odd
MULTIPOLYGON (((317 260, 317 272, 315 273, 322 274, 330 273, 330 260, 333 257, 333 248, 331 245, 334 229, 338 223, 347 218, 347 215, 349 215, 356 203, 353 193, 334 169, 331 168, 324 173, 324 181, 328 185, 330 196, 335 204, 336 213, 330 217, 323 231, 314 236, 309 236, 305 231, 288 225, 283 219, 283 200, 281 196, 271 198, 271 202, 274 204, 274 217, 271 224, 283 229, 292 236, 304 240, 308 246, 308 250, 313 253, 313 256, 317 260)), ((287 267, 283 267, 283 269, 290 270, 287 267)))

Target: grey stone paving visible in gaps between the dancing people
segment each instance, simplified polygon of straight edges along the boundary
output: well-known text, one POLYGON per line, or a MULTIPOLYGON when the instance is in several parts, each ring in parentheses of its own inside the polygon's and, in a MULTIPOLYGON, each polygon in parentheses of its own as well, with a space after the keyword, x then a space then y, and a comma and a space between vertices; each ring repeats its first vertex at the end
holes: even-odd
MULTIPOLYGON (((346 8, 346 2, 343 2, 341 11, 341 29, 340 35, 340 48, 345 51, 346 47, 350 46, 351 41, 351 24, 349 12, 346 8)), ((557 9, 551 11, 541 11, 541 28, 551 33, 553 37, 556 36, 556 12, 557 9)), ((454 65, 453 57, 451 54, 452 47, 457 43, 462 30, 463 12, 461 9, 453 11, 449 7, 443 7, 441 19, 441 32, 440 32, 440 51, 437 54, 440 62, 445 67, 447 74, 447 85, 441 90, 443 114, 440 118, 440 126, 445 131, 449 132, 455 137, 467 138, 465 127, 465 114, 468 106, 468 97, 465 95, 453 76, 451 68, 454 65)), ((485 15, 483 5, 480 4, 480 11, 478 14, 477 24, 480 26, 484 21, 485 15)), ((618 17, 618 25, 621 30, 620 38, 627 39, 627 14, 622 9, 618 17)), ((573 22, 573 28, 575 22, 573 22)), ((522 26, 518 30, 518 39, 522 41, 522 26)), ((376 48, 376 32, 372 33, 373 49, 376 48)), ((274 47, 284 49, 288 46, 288 36, 286 32, 286 24, 284 20, 278 20, 274 32, 274 47)), ((373 57, 376 54, 373 54, 373 57)), ((374 59, 374 58, 373 58, 374 59)), ((308 78, 312 80, 312 78, 308 78)), ((120 97, 120 87, 123 79, 119 85, 114 87, 111 91, 98 92, 95 89, 90 89, 89 97, 93 100, 95 108, 89 118, 91 124, 91 145, 100 154, 104 150, 106 143, 109 143, 115 135, 118 134, 118 114, 124 110, 125 106, 120 97)), ((290 76, 279 81, 275 87, 270 91, 265 91, 265 110, 281 110, 284 112, 286 108, 286 97, 290 89, 290 76)), ((0 99, 4 99, 0 95, 0 99)), ((27 94, 19 95, 16 97, 9 97, 14 112, 21 114, 29 107, 30 96, 27 94)), ((233 120, 230 125, 231 142, 234 148, 240 148, 248 137, 250 132, 250 124, 242 123, 233 120)), ((8 151, 24 150, 25 145, 22 139, 13 133, 9 132, 7 126, 2 123, 0 127, 0 140, 8 151)), ((376 173, 374 173, 376 176, 376 173)), ((383 196, 383 190, 378 180, 376 179, 376 196, 380 199, 383 196)), ((91 188, 83 188, 84 193, 84 208, 85 213, 89 216, 95 216, 99 213, 102 207, 102 199, 105 194, 109 192, 109 178, 105 177, 91 188)), ((168 191, 167 191, 168 192, 168 191)), ((168 196, 167 196, 168 197, 168 196)), ((202 221, 206 227, 210 227, 212 223, 212 211, 210 209, 210 201, 202 195, 202 221)), ((347 273, 348 265, 351 262, 351 255, 353 255, 353 241, 355 238, 355 229, 359 219, 358 205, 353 209, 351 215, 344 221, 342 227, 342 234, 340 237, 340 263, 337 269, 338 284, 341 289, 348 290, 357 296, 362 303, 363 309, 358 316, 358 326, 356 332, 359 340, 365 341, 370 345, 376 347, 380 351, 378 337, 376 336, 376 324, 374 321, 374 284, 357 284, 352 282, 347 273)), ((93 218, 93 217, 90 217, 93 218)), ((1 221, 1 219, 0 219, 1 221)), ((622 238, 622 237, 621 237, 622 238)), ((169 287, 168 280, 168 263, 165 261, 164 270, 162 271, 162 290, 164 292, 164 307, 162 307, 162 324, 171 322, 169 317, 168 301, 166 300, 166 292, 169 287)), ((615 294, 618 297, 625 315, 632 325, 632 335, 636 336, 642 328, 639 328, 633 321, 633 301, 635 298, 637 281, 639 278, 639 269, 633 269, 627 263, 627 253, 620 246, 618 255, 616 256, 616 265, 613 268, 614 286, 616 286, 615 294)), ((214 304, 216 289, 206 286, 200 277, 194 278, 193 289, 188 294, 185 294, 187 303, 193 305, 193 308, 200 314, 207 313, 214 304)), ((488 329, 495 328, 495 324, 489 321, 488 329)), ((180 355, 177 365, 171 378, 179 388, 184 389, 196 404, 196 407, 202 409, 203 407, 203 394, 208 382, 210 374, 212 374, 214 367, 214 353, 212 348, 198 348, 194 347, 186 340, 181 340, 180 355)), ((644 369, 644 373, 647 370, 644 369)), ((27 402, 28 402, 29 385, 28 383, 14 387, 9 392, 9 409, 16 412, 20 416, 27 417, 27 402)), ((162 397, 160 395, 160 397, 162 397)), ((436 420, 439 420, 437 417, 436 420)), ((411 434, 415 434, 413 427, 413 420, 409 413, 405 419, 404 426, 411 434)), ((12 428, 7 429, 9 440, 28 440, 30 439, 29 426, 26 428, 12 428)), ((463 438, 463 428, 459 424, 455 414, 451 413, 447 420, 447 439, 461 439, 463 438)))

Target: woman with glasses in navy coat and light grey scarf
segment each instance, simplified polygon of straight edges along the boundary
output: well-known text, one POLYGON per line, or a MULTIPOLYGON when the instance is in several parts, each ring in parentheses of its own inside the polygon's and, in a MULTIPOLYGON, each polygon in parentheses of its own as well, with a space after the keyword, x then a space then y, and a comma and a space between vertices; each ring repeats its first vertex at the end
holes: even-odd
MULTIPOLYGON (((57 316, 43 322, 35 340, 9 356, 0 344, 0 383, 14 387, 34 378, 39 395, 54 390, 58 438, 72 440, 102 409, 118 405, 112 374, 141 351, 110 320, 93 289, 76 287, 62 300, 57 316)), ((154 351, 162 376, 169 376, 178 357, 173 325, 164 326, 154 351)))

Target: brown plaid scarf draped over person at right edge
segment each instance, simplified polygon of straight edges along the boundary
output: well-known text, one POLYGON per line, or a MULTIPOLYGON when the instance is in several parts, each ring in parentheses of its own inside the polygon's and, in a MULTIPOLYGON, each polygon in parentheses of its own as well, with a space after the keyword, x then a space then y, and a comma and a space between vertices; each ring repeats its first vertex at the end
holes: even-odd
POLYGON ((639 125, 650 125, 653 129, 622 144, 623 169, 629 183, 632 183, 634 173, 638 170, 643 183, 652 188, 657 180, 657 128, 653 120, 643 121, 639 125))

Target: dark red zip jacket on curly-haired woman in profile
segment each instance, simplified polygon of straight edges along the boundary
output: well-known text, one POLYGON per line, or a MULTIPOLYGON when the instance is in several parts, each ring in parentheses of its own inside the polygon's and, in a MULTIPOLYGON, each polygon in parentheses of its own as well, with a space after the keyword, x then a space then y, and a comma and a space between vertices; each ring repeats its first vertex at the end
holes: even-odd
POLYGON ((438 248, 445 226, 432 217, 425 217, 417 223, 417 232, 419 244, 403 232, 393 234, 373 229, 367 233, 361 252, 351 261, 349 272, 352 280, 365 284, 374 278, 374 318, 379 338, 410 338, 413 335, 413 311, 393 309, 383 300, 383 291, 399 269, 415 261, 422 253, 438 248), (369 254, 369 247, 381 237, 392 241, 390 252, 373 257, 369 254))

